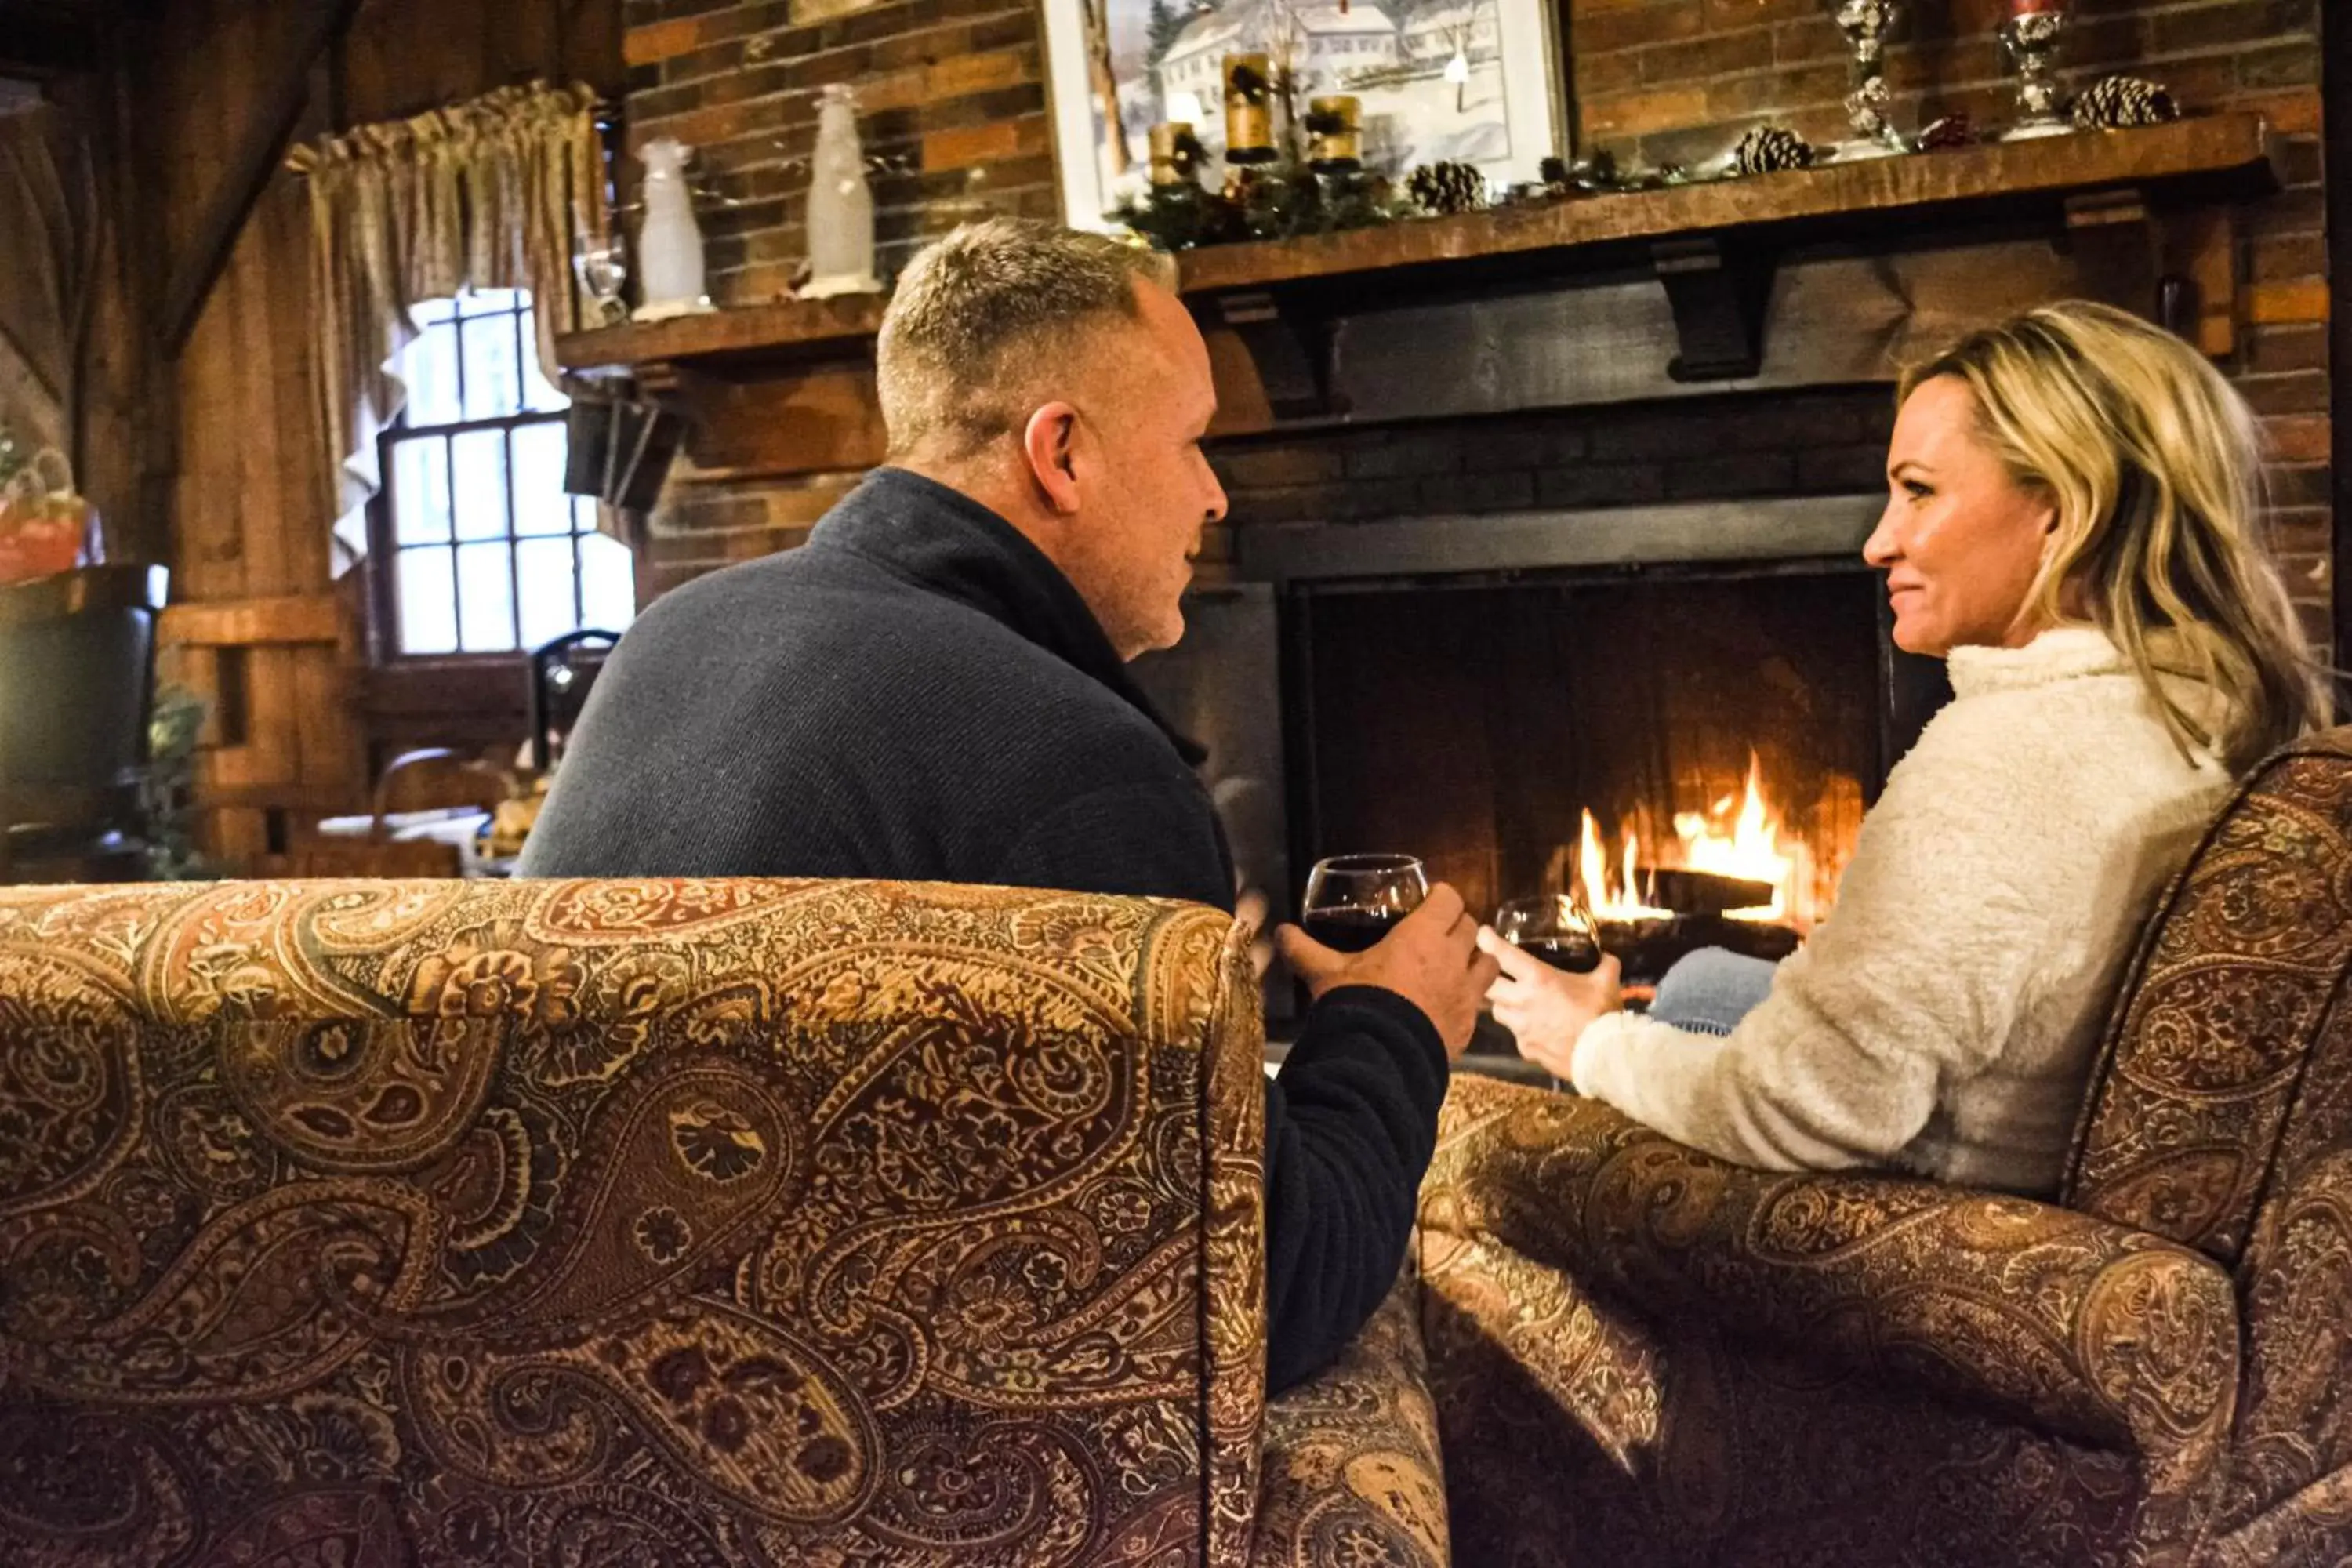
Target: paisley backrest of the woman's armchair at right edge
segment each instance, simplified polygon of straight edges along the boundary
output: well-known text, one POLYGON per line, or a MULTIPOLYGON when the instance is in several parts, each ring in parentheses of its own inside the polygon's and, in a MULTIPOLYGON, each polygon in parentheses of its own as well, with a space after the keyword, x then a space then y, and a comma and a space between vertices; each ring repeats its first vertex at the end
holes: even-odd
POLYGON ((2352 1554, 2347 971, 2352 729, 2333 729, 2256 769, 2166 893, 2065 1192, 2234 1269, 2223 1561, 2352 1554))

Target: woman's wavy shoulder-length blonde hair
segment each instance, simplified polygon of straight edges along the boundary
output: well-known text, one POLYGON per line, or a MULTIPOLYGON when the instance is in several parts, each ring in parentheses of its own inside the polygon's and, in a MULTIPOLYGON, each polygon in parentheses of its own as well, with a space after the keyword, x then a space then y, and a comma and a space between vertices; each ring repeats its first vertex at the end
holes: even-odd
POLYGON ((1938 376, 1969 386, 2011 477, 2058 510, 2027 618, 2089 616, 2107 632, 2183 755, 2211 748, 2244 771, 2326 722, 2321 665, 2258 534, 2253 411, 2201 353, 2124 310, 2063 301, 1969 334, 1912 367, 1900 395, 1938 376), (2220 693, 2218 731, 2159 670, 2220 693))

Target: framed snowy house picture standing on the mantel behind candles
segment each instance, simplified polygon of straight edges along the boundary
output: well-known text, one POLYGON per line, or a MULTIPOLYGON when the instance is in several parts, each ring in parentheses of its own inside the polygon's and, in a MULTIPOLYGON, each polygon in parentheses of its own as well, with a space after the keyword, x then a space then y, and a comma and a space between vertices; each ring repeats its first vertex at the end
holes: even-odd
POLYGON ((1566 158, 1555 0, 1040 0, 1054 162, 1073 228, 1141 190, 1150 127, 1185 120, 1225 150, 1225 56, 1265 54, 1294 113, 1355 94, 1364 162, 1477 165, 1489 183, 1566 158))

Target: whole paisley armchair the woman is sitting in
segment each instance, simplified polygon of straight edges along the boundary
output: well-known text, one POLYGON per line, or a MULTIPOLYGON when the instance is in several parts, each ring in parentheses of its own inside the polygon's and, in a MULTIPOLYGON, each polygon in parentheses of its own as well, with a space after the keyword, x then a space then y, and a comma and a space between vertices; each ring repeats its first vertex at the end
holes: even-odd
POLYGON ((2352 1556, 2347 969, 2331 731, 2166 896, 2065 1206, 1456 1079, 1421 1309, 1461 1561, 2352 1556))

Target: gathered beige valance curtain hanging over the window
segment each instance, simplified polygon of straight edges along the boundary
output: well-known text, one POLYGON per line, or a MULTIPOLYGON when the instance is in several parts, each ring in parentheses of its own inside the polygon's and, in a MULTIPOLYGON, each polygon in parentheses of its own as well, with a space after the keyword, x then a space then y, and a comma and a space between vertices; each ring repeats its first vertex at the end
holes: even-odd
POLYGON ((609 228, 595 108, 588 87, 501 87, 287 158, 310 179, 320 428, 339 475, 334 531, 353 559, 367 550, 362 508, 383 487, 376 435, 407 397, 390 364, 416 336, 409 306, 466 287, 529 289, 539 367, 560 383, 555 334, 583 320, 574 237, 609 228))

